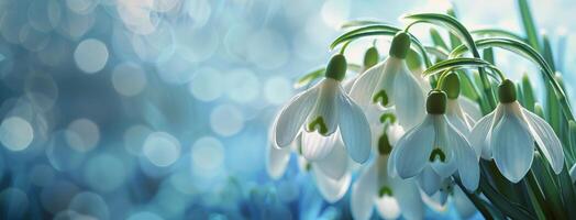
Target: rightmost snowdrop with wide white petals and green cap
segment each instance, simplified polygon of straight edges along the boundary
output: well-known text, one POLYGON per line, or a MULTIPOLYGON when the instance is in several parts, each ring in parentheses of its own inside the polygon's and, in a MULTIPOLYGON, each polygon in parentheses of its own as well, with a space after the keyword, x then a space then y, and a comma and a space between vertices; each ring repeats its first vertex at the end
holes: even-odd
POLYGON ((500 103, 481 118, 470 132, 469 141, 481 157, 494 158, 500 173, 518 183, 528 173, 534 158, 534 142, 554 173, 564 167, 562 144, 552 128, 539 116, 517 101, 514 84, 508 79, 498 87, 500 103))

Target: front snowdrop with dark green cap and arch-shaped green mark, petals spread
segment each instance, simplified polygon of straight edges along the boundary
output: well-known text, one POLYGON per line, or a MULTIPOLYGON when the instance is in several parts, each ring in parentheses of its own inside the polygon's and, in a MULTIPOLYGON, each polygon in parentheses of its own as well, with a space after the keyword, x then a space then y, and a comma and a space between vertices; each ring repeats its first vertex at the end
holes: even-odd
POLYGON ((423 122, 409 130, 392 150, 388 167, 401 178, 418 177, 420 187, 433 195, 442 179, 456 173, 468 190, 479 180, 479 157, 464 135, 447 120, 446 95, 431 91, 423 122))

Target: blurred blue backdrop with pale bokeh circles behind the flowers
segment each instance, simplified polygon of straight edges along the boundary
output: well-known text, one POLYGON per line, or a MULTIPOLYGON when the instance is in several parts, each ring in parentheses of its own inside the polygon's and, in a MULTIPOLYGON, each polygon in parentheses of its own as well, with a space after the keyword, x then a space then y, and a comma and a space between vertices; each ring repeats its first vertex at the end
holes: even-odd
MULTIPOLYGON (((575 70, 576 2, 531 3, 562 57, 558 69, 575 70)), ((346 218, 346 199, 323 202, 296 164, 280 180, 267 176, 269 123, 293 95, 293 80, 330 57, 342 22, 401 25, 402 13, 448 7, 434 0, 0 0, 0 218, 346 218)), ((470 29, 522 33, 512 0, 455 7, 470 29)), ((413 30, 428 41, 425 28, 413 30)), ((353 44, 348 59, 359 63, 369 43, 353 44)), ((388 45, 378 46, 385 53, 388 45)), ((534 70, 498 56, 516 64, 501 66, 512 78, 534 70)), ((567 85, 576 80, 564 76, 567 85)), ((457 218, 453 211, 429 217, 457 218)))

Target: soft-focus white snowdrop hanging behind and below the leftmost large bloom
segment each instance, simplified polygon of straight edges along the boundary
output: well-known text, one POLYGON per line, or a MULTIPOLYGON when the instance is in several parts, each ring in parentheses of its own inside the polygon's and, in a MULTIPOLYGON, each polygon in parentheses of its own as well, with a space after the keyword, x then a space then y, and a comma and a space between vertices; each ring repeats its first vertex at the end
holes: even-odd
MULTIPOLYGON (((272 144, 266 147, 266 170, 273 179, 279 179, 286 172, 290 161, 291 152, 301 148, 300 138, 297 138, 291 147, 279 148, 272 144)), ((348 156, 342 141, 336 142, 334 150, 323 160, 308 162, 298 155, 298 164, 301 170, 311 172, 318 190, 329 202, 340 200, 350 188, 352 174, 348 169, 348 156)))

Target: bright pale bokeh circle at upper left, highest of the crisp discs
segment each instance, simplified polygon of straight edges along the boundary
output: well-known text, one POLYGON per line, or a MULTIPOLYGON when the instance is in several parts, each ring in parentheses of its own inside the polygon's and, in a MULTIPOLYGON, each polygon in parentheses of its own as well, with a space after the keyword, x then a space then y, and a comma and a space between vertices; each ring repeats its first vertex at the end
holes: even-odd
POLYGON ((95 74, 102 70, 108 62, 108 47, 96 38, 84 40, 74 51, 74 61, 80 70, 95 74))

